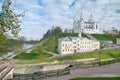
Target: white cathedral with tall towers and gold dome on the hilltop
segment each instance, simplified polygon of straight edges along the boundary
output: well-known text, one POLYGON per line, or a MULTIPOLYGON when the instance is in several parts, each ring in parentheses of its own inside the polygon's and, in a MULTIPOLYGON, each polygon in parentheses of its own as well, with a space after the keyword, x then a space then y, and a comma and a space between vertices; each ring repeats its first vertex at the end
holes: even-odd
POLYGON ((86 22, 83 19, 83 15, 81 13, 80 20, 74 18, 73 21, 73 32, 74 33, 88 33, 88 34, 103 34, 103 31, 99 29, 99 25, 94 21, 94 17, 92 14, 90 15, 89 20, 86 22))

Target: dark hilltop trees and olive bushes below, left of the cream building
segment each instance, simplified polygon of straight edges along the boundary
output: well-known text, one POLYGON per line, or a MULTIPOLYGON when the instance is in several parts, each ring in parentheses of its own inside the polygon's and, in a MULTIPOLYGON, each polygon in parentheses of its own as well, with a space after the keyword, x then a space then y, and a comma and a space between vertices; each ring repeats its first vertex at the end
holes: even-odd
POLYGON ((46 43, 43 44, 44 48, 47 51, 50 52, 55 52, 55 47, 57 47, 57 42, 56 42, 56 38, 54 35, 56 34, 60 34, 62 33, 62 28, 60 26, 56 26, 56 27, 52 27, 52 29, 49 29, 44 35, 43 38, 41 40, 47 40, 47 45, 46 43), (49 45, 48 45, 49 44, 49 45))

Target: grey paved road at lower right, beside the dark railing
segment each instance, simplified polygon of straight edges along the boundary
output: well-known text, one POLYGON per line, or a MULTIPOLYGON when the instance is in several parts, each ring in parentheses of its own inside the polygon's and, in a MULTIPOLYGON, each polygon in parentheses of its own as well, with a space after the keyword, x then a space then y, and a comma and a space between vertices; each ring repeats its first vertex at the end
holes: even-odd
POLYGON ((120 63, 105 65, 101 67, 82 68, 71 70, 70 75, 53 77, 47 80, 69 80, 76 77, 119 77, 120 63))

